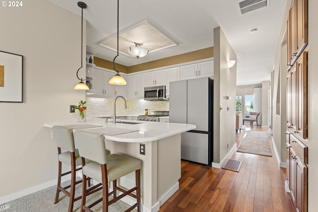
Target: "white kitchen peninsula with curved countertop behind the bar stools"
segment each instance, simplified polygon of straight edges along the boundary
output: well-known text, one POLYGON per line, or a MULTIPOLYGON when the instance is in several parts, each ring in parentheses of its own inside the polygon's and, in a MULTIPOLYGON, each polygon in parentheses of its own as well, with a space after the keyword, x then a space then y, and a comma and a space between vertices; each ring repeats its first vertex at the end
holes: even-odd
MULTIPOLYGON (((159 207, 179 188, 181 133, 195 129, 195 125, 128 120, 125 120, 125 123, 127 124, 105 123, 103 119, 92 118, 82 124, 135 131, 114 136, 104 135, 106 148, 111 153, 128 155, 142 161, 142 211, 157 212, 159 207), (141 154, 140 143, 145 144, 145 154, 141 154)), ((49 128, 54 125, 69 125, 69 123, 45 124, 49 128)), ((98 128, 89 130, 92 129, 98 128)), ((135 183, 135 174, 126 175, 118 183, 124 188, 131 188, 135 183)), ((125 199, 125 202, 133 203, 129 198, 125 199)))

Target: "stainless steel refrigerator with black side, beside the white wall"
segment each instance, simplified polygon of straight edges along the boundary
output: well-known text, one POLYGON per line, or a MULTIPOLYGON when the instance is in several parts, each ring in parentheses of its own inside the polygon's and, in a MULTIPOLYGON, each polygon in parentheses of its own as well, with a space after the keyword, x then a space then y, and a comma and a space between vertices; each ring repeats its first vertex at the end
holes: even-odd
POLYGON ((213 80, 209 77, 170 82, 169 122, 196 126, 181 134, 181 159, 212 165, 213 80))

